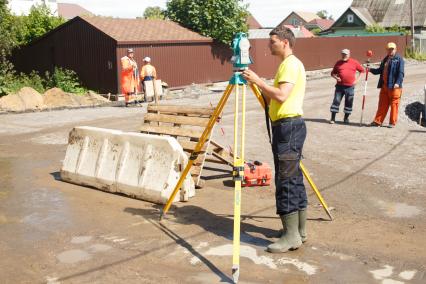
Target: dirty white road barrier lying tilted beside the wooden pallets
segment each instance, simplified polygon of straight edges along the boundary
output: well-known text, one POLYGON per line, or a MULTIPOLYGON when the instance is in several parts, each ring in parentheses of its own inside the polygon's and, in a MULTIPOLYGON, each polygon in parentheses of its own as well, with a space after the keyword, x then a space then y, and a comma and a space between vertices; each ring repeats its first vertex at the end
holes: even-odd
MULTIPOLYGON (((173 137, 76 127, 61 169, 64 181, 164 204, 188 157, 173 137)), ((195 195, 190 175, 174 201, 195 195)))

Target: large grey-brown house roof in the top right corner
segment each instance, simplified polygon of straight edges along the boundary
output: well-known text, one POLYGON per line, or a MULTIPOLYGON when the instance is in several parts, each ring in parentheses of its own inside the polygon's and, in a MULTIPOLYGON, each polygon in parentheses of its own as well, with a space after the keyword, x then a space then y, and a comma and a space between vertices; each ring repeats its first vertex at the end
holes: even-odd
MULTIPOLYGON (((426 1, 413 1, 414 25, 426 26, 426 1)), ((366 8, 373 19, 384 27, 409 27, 410 0, 353 0, 352 7, 366 8)))

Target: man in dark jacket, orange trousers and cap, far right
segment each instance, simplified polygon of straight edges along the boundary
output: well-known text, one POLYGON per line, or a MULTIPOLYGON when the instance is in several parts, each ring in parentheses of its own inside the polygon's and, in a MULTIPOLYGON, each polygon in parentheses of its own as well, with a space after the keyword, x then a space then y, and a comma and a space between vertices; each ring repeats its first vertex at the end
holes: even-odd
POLYGON ((390 106, 389 128, 393 128, 398 120, 398 107, 402 94, 402 81, 404 80, 404 60, 396 53, 396 44, 389 42, 386 45, 387 56, 380 63, 379 68, 370 68, 374 75, 380 74, 379 106, 376 117, 371 126, 381 126, 390 106))

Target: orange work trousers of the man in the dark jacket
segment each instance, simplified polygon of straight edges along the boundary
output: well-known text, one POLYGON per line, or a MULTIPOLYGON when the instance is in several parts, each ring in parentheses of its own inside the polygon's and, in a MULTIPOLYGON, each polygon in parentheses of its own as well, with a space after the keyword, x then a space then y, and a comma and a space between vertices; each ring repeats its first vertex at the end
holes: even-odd
POLYGON ((383 86, 380 90, 379 106, 377 108, 376 118, 374 122, 382 124, 386 118, 389 107, 390 117, 389 124, 395 125, 398 120, 399 101, 401 100, 402 88, 389 89, 383 86))

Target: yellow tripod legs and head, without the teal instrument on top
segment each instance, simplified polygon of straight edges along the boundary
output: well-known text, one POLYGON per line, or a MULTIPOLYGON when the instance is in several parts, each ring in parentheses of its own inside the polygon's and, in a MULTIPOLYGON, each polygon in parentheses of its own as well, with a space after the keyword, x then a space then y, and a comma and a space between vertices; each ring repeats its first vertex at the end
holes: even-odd
MULTIPOLYGON (((186 165, 182 175, 180 176, 172 192, 172 195, 170 196, 169 200, 167 201, 160 215, 160 221, 161 221, 163 217, 169 211, 170 206, 172 205, 172 202, 175 199, 177 192, 179 191, 179 189, 181 188, 183 184, 183 181, 185 180, 185 177, 188 175, 192 165, 194 164, 194 161, 197 159, 198 155, 200 154, 201 149, 204 146, 204 143, 207 141, 208 137, 210 136, 210 133, 213 129, 214 124, 220 118, 220 115, 223 112, 223 109, 226 105, 226 102, 228 101, 230 94, 235 89, 234 165, 233 165, 233 179, 235 181, 235 189, 234 189, 234 233, 233 233, 233 257, 232 257, 232 276, 233 276, 234 283, 238 282, 239 273, 240 273, 239 268, 240 268, 241 182, 243 181, 243 178, 244 178, 245 110, 246 110, 246 91, 247 91, 247 85, 245 81, 241 79, 237 79, 240 76, 241 76, 240 72, 238 71, 234 72, 234 77, 233 79, 231 79, 231 82, 233 83, 230 83, 226 87, 226 90, 223 96, 221 97, 218 105, 216 106, 216 109, 213 112, 213 115, 210 117, 210 120, 206 128, 204 129, 200 140, 198 141, 194 151, 192 152, 189 158, 188 164, 186 165), (241 125, 239 123, 239 116, 240 116, 240 111, 239 111, 240 90, 239 89, 240 87, 242 88, 241 125), (240 143, 238 143, 239 138, 240 138, 240 143)), ((250 88, 252 89, 259 103, 262 105, 263 108, 265 108, 266 107, 265 102, 263 101, 262 94, 260 93, 258 87, 256 85, 250 85, 250 88)), ((303 172, 303 175, 308 180, 309 184, 314 190, 316 196, 318 197, 327 215, 330 217, 330 220, 333 220, 333 217, 330 213, 330 210, 327 207, 327 204, 322 198, 320 191, 318 190, 318 188, 312 181, 309 173, 307 172, 302 162, 300 162, 300 168, 303 172)))

